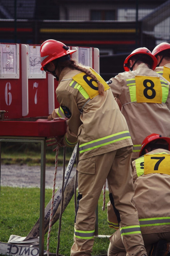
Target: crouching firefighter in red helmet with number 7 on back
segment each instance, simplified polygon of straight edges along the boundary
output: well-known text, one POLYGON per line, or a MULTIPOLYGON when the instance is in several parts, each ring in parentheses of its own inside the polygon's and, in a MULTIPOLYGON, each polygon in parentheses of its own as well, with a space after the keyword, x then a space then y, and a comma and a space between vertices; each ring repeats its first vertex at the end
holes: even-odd
MULTIPOLYGON (((147 136, 142 142, 139 158, 132 165, 133 204, 138 210, 147 255, 170 255, 167 254, 170 242, 170 138, 156 133, 147 136)), ((107 216, 109 227, 116 229, 110 237, 108 256, 126 256, 119 215, 113 211, 110 202, 107 216)))

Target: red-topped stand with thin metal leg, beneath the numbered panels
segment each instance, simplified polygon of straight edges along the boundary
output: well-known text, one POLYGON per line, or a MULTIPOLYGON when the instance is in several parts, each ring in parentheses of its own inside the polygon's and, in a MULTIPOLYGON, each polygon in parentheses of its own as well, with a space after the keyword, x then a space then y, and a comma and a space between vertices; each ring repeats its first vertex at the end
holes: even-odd
MULTIPOLYGON (((2 113, 2 111, 1 111, 2 113)), ((66 133, 64 120, 48 121, 0 121, 0 180, 1 180, 1 142, 41 143, 41 179, 40 179, 40 236, 39 255, 44 254, 44 209, 45 209, 45 169, 46 139, 62 136, 66 133)))

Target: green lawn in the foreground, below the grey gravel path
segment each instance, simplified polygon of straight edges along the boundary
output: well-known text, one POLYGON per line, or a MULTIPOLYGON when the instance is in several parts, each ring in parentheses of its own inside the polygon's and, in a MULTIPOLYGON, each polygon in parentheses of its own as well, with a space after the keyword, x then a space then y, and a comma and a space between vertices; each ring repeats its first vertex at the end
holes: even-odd
MULTIPOLYGON (((1 187, 0 194, 0 241, 8 242, 10 235, 27 236, 37 219, 39 218, 39 188, 13 188, 1 187)), ((52 189, 45 190, 45 205, 52 196, 52 189)), ((106 203, 109 201, 106 191, 106 203)), ((98 234, 111 235, 114 229, 107 225, 107 209, 102 211, 102 193, 98 201, 98 234)), ((59 253, 70 256, 74 234, 74 197, 68 204, 62 216, 59 253)), ((48 232, 47 232, 48 233, 48 232)), ((47 249, 47 233, 45 234, 44 249, 47 249)), ((58 221, 53 225, 50 234, 51 253, 56 253, 58 237, 58 221)), ((108 238, 94 239, 92 255, 106 254, 109 245, 108 238)))

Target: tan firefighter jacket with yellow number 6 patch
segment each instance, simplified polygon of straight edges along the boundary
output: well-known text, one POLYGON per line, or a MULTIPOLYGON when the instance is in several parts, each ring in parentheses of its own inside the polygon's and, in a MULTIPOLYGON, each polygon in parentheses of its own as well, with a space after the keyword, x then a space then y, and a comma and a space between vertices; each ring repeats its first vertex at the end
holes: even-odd
POLYGON ((80 159, 132 145, 126 120, 109 86, 93 69, 90 71, 104 85, 104 96, 84 72, 65 68, 56 90, 60 108, 53 111, 53 118, 68 118, 64 143, 74 146, 79 142, 80 159))

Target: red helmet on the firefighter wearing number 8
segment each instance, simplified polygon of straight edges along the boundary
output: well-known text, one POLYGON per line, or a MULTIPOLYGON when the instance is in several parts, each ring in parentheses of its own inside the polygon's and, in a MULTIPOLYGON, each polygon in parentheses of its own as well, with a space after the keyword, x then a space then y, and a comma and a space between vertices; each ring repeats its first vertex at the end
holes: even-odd
POLYGON ((152 55, 151 51, 149 51, 146 47, 140 47, 140 48, 137 48, 136 50, 134 50, 129 56, 127 56, 127 58, 125 59, 124 61, 124 70, 125 71, 129 71, 129 68, 128 68, 128 60, 130 59, 130 57, 132 57, 133 55, 136 55, 136 54, 146 54, 146 55, 149 55, 152 60, 153 60, 153 65, 152 65, 152 70, 154 70, 156 68, 156 65, 157 65, 157 59, 155 56, 152 55))

